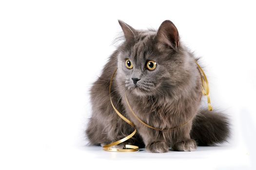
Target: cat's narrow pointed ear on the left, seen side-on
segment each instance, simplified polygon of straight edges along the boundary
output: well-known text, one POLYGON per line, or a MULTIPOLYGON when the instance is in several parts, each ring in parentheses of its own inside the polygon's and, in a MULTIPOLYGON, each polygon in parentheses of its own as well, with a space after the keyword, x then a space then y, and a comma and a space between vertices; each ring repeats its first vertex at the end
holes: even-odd
POLYGON ((125 22, 118 20, 125 37, 126 42, 130 43, 135 40, 137 31, 131 27, 130 25, 126 24, 125 22))

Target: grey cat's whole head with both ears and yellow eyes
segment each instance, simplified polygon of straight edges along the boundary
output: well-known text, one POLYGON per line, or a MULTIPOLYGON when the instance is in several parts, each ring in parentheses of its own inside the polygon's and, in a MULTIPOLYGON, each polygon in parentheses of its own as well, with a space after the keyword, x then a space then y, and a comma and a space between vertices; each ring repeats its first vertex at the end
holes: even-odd
POLYGON ((136 95, 164 95, 189 78, 189 55, 176 26, 165 20, 155 30, 136 30, 119 20, 125 41, 118 48, 118 75, 136 95))

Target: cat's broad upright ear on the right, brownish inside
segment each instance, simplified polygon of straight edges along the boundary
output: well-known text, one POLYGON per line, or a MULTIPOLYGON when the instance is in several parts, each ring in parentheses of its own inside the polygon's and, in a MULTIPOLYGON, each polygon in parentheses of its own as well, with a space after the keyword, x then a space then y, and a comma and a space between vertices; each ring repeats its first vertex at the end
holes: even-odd
POLYGON ((173 49, 177 49, 178 47, 178 30, 174 23, 170 20, 165 20, 162 22, 158 29, 156 38, 159 43, 165 44, 173 49))

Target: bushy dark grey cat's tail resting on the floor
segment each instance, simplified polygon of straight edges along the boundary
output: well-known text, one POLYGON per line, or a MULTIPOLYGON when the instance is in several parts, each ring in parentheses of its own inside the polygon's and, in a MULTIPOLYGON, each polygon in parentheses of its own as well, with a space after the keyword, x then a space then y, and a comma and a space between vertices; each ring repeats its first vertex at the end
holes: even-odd
POLYGON ((229 119, 219 112, 200 110, 193 120, 190 136, 199 146, 213 146, 226 142, 230 137, 229 119))

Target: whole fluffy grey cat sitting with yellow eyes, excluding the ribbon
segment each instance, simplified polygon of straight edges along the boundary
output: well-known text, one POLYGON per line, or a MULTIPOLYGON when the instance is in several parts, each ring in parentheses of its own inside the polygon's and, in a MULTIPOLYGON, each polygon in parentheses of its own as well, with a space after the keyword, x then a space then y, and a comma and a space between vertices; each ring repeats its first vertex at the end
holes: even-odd
MULTIPOLYGON (((126 144, 145 147, 148 152, 195 151, 227 141, 229 121, 222 113, 199 109, 202 92, 198 59, 179 41, 176 26, 165 20, 155 30, 136 30, 119 20, 125 41, 111 55, 91 88, 92 117, 86 135, 92 145, 112 143, 128 136, 134 128, 114 111, 111 97, 138 133, 126 144), (131 113, 124 94, 137 116, 159 129, 146 127, 131 113)), ((124 143, 118 145, 123 148, 124 143)))

